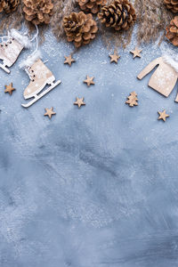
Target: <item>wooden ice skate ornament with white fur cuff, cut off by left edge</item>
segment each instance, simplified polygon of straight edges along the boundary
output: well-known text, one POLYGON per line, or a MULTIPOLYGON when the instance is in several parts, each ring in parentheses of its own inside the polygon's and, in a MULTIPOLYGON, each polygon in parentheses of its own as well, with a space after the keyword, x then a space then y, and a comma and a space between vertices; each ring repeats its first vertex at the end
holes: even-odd
POLYGON ((15 29, 8 32, 8 36, 0 36, 0 39, 0 60, 3 61, 3 63, 0 63, 0 68, 10 73, 8 67, 12 67, 17 61, 23 48, 30 47, 30 42, 28 36, 20 34, 15 29))

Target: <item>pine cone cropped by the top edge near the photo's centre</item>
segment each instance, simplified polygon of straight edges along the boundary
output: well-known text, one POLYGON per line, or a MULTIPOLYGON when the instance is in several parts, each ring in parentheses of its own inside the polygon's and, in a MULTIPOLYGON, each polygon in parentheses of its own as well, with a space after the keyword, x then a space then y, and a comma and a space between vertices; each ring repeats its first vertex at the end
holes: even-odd
POLYGON ((100 11, 101 6, 106 4, 106 0, 78 0, 81 10, 96 14, 100 11))

